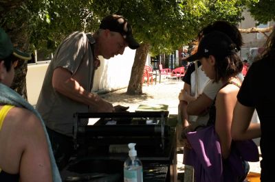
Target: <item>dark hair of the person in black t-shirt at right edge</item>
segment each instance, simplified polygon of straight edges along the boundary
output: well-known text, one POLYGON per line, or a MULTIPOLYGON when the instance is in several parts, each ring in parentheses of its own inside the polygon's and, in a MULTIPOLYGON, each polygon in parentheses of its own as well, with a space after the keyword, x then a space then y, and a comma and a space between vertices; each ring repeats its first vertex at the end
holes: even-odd
POLYGON ((274 57, 275 57, 275 27, 265 42, 263 53, 261 54, 259 59, 255 61, 265 60, 265 59, 274 60, 274 57))

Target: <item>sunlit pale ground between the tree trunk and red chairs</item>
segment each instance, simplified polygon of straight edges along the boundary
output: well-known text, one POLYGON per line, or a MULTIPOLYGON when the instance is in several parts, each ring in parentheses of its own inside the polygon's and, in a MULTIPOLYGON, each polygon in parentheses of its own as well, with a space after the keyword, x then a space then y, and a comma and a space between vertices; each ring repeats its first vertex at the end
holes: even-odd
MULTIPOLYGON (((126 95, 126 88, 102 95, 104 99, 113 103, 113 105, 124 105, 129 106, 129 111, 134 112, 140 104, 150 105, 154 104, 165 104, 168 105, 169 114, 177 114, 178 99, 177 96, 179 91, 184 87, 183 81, 168 81, 163 80, 162 83, 153 83, 153 85, 142 87, 142 95, 129 96, 126 95)), ((179 179, 182 177, 184 172, 184 165, 182 164, 183 155, 181 153, 182 148, 177 148, 177 169, 179 179)), ((261 172, 259 162, 250 163, 251 172, 261 172)), ((182 179, 182 178, 181 178, 182 179)), ((181 180, 179 180, 181 181, 181 180)))

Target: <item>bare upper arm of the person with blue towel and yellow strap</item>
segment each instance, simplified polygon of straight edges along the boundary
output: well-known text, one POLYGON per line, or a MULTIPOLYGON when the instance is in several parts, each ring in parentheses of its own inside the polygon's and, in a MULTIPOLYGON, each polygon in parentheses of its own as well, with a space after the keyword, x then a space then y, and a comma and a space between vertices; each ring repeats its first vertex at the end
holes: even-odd
POLYGON ((52 166, 49 147, 41 121, 30 112, 23 114, 21 141, 23 153, 20 161, 22 182, 52 181, 52 166))

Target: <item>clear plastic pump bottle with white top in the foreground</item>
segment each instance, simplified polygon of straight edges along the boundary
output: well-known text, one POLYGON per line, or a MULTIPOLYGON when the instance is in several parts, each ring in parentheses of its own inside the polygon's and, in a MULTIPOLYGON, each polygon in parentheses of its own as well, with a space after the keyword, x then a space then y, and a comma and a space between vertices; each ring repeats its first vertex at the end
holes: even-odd
POLYGON ((129 143, 129 157, 124 162, 124 182, 143 182, 142 162, 137 158, 135 143, 129 143))

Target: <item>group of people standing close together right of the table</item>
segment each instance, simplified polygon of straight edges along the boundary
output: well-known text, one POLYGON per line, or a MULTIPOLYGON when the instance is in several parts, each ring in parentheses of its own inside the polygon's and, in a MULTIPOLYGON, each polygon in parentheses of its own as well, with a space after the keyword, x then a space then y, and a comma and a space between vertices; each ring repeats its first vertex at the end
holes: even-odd
POLYGON ((249 170, 247 161, 259 160, 259 151, 252 142, 253 138, 261 138, 261 181, 272 180, 270 166, 274 161, 267 149, 272 140, 267 131, 267 126, 272 129, 272 116, 267 113, 274 109, 270 105, 273 99, 267 101, 266 97, 270 94, 263 94, 261 99, 256 95, 265 92, 263 85, 267 83, 263 77, 272 77, 270 72, 264 73, 263 65, 273 64, 274 39, 273 30, 263 53, 250 66, 248 62, 241 62, 237 55, 243 42, 234 25, 217 21, 200 31, 197 50, 186 59, 192 63, 183 78, 184 88, 179 93, 179 122, 182 127, 180 139, 184 144, 184 164, 193 166, 196 181, 243 181, 249 170), (205 74, 201 74, 200 68, 205 74), (253 69, 250 71, 250 68, 253 69), (261 86, 256 84, 260 79, 263 83, 261 86), (256 85, 259 86, 257 89, 256 85), (210 88, 212 94, 206 94, 206 90, 210 88), (261 124, 254 122, 254 112, 259 114, 261 124), (266 127, 263 127, 262 122, 266 127), (265 138, 263 131, 267 132, 265 138), (249 146, 250 150, 240 146, 249 146), (230 169, 235 165, 232 163, 232 155, 236 157, 236 151, 242 151, 235 158, 239 159, 239 168, 236 167, 239 171, 230 169), (209 168, 208 163, 215 165, 209 168), (213 173, 215 175, 210 175, 213 173))

